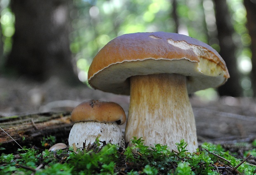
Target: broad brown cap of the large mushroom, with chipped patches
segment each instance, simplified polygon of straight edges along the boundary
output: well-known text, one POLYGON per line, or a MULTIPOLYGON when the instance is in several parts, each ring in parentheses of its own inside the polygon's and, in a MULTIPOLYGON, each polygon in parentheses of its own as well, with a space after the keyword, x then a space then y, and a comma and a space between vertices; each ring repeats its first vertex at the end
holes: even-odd
POLYGON ((130 33, 106 44, 93 59, 88 82, 95 89, 130 94, 129 77, 159 73, 187 76, 192 93, 224 84, 223 58, 209 45, 177 33, 130 33))

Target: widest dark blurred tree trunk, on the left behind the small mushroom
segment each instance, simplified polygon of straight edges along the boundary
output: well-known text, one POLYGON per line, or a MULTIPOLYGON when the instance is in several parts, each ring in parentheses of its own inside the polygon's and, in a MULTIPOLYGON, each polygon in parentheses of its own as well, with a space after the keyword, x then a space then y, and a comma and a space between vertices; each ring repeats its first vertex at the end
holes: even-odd
MULTIPOLYGON (((71 0, 12 0, 15 33, 6 66, 44 81, 51 76, 78 83, 69 50, 71 0)), ((7 72, 8 73, 8 72, 7 72)))

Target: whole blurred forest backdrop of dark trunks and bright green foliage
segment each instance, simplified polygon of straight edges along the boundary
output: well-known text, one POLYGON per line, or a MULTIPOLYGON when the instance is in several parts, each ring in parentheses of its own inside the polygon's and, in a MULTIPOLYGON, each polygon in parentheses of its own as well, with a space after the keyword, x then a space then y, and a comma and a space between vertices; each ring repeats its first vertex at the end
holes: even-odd
POLYGON ((199 95, 256 96, 256 0, 0 0, 0 23, 1 76, 86 84, 111 39, 164 31, 201 40, 225 60, 231 78, 199 95))

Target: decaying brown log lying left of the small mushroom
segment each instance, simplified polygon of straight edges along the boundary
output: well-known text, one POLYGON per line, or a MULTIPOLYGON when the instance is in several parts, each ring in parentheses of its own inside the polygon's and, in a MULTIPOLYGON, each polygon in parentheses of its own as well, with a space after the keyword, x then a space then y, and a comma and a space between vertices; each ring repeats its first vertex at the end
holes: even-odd
MULTIPOLYGON (((54 135, 57 139, 68 138, 73 126, 71 112, 47 112, 39 114, 0 117, 0 127, 21 146, 40 144, 43 136, 54 135), (39 142, 39 143, 38 143, 39 142)), ((0 147, 18 147, 17 143, 0 130, 0 147)))

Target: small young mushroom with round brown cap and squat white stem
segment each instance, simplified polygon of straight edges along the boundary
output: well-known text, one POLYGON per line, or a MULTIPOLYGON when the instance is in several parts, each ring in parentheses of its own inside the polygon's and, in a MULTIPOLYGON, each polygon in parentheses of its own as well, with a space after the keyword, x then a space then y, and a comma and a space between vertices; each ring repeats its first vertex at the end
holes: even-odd
MULTIPOLYGON (((76 147, 92 144, 100 134, 100 140, 124 147, 124 137, 119 124, 126 121, 123 108, 114 102, 88 100, 76 106, 71 114, 76 122, 69 133, 69 145, 76 147)), ((101 145, 103 145, 101 143, 101 145)))

